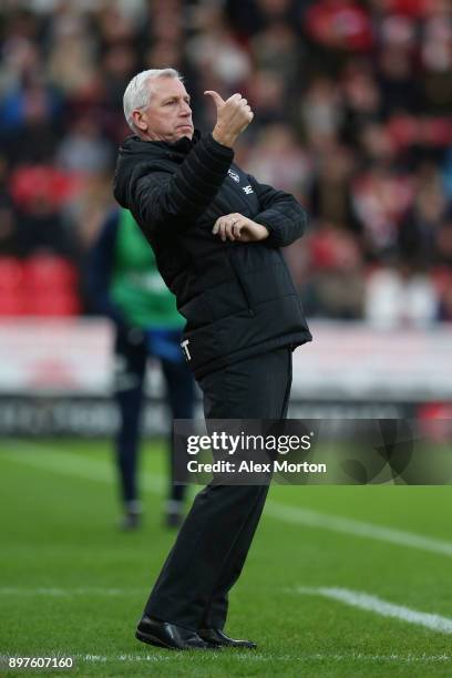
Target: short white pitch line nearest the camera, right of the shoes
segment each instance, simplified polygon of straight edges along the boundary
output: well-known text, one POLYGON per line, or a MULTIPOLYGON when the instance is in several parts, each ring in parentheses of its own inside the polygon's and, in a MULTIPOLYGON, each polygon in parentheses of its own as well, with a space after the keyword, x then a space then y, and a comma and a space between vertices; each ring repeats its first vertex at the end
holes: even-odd
POLYGON ((430 630, 441 634, 452 634, 452 619, 449 617, 419 612, 418 609, 412 609, 404 605, 394 605, 378 596, 371 596, 359 590, 325 586, 299 586, 296 588, 296 593, 332 598, 333 600, 340 600, 351 607, 373 612, 381 617, 392 617, 401 622, 407 622, 408 624, 424 626, 430 630))

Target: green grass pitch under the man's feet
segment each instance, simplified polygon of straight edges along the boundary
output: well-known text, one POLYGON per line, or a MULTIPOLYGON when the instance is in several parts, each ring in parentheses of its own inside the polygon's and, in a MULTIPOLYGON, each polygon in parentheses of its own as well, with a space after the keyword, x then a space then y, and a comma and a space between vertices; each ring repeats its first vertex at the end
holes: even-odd
POLYGON ((0 655, 73 656, 61 676, 452 676, 451 486, 273 486, 227 626, 257 651, 171 653, 134 638, 175 537, 165 474, 147 443, 145 522, 123 534, 109 442, 0 441, 0 655))

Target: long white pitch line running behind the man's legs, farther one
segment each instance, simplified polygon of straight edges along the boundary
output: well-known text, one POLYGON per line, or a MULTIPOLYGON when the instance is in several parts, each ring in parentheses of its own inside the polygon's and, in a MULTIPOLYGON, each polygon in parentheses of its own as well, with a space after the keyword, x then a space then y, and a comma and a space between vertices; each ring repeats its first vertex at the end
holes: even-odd
MULTIPOLYGON (((49 448, 37 443, 22 441, 8 441, 10 449, 24 452, 51 452, 54 458, 49 460, 29 454, 18 454, 17 452, 7 452, 8 459, 13 462, 22 463, 35 469, 45 469, 54 473, 63 473, 66 475, 75 475, 91 481, 112 484, 114 482, 113 470, 103 463, 89 461, 84 465, 80 460, 75 460, 73 455, 64 454, 61 449, 49 448)), ((4 453, 3 453, 4 454, 4 453)), ((141 484, 144 491, 154 494, 162 494, 165 487, 165 480, 161 475, 142 473, 141 484)), ((356 521, 338 515, 321 513, 310 508, 300 506, 287 506, 269 500, 265 506, 265 515, 271 518, 290 523, 294 525, 302 525, 304 527, 312 527, 315 530, 328 530, 339 534, 347 534, 377 542, 396 544, 397 546, 408 546, 428 553, 452 556, 452 542, 439 540, 435 537, 424 536, 405 530, 397 530, 394 527, 386 527, 367 523, 364 521, 356 521)))

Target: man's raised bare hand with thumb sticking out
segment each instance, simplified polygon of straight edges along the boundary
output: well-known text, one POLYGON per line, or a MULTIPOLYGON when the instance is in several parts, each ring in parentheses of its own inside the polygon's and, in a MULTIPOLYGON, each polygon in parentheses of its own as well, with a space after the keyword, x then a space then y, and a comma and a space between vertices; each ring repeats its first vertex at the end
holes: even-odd
POLYGON ((243 99, 242 94, 233 94, 224 101, 218 92, 212 90, 207 90, 204 94, 212 96, 217 110, 217 122, 212 136, 219 144, 232 147, 254 117, 247 100, 243 99))

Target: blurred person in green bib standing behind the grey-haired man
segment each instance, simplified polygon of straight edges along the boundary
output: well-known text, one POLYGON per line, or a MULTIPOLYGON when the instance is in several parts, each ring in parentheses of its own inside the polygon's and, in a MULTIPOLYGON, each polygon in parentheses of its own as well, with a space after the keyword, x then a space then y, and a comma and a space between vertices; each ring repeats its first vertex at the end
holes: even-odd
MULTIPOLYGON (((124 515, 122 527, 140 525, 137 490, 140 423, 147 359, 158 360, 173 419, 192 419, 195 389, 179 342, 184 319, 161 278, 155 257, 127 209, 113 209, 92 247, 88 266, 90 295, 96 311, 115 326, 114 394, 120 411, 115 439, 124 515)), ((165 522, 182 522, 185 486, 174 482, 171 436, 171 482, 165 522)))

